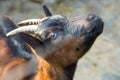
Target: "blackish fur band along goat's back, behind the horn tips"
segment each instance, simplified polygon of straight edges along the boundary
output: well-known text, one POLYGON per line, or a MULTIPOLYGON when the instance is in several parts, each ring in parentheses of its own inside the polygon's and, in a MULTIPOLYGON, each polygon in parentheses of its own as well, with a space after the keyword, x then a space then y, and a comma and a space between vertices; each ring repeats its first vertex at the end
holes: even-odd
POLYGON ((30 59, 31 51, 19 36, 6 37, 6 34, 15 28, 16 25, 8 17, 0 16, 0 37, 7 39, 7 44, 14 56, 30 59))

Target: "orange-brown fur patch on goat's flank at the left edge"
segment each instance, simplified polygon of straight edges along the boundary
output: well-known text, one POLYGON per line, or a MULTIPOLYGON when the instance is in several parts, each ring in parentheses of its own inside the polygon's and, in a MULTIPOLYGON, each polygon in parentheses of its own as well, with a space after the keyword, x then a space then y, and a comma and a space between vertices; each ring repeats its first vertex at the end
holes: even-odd
POLYGON ((11 54, 11 50, 7 46, 5 39, 0 39, 0 44, 0 80, 2 80, 1 78, 5 74, 7 74, 11 69, 15 68, 16 66, 24 64, 26 60, 14 57, 11 54))

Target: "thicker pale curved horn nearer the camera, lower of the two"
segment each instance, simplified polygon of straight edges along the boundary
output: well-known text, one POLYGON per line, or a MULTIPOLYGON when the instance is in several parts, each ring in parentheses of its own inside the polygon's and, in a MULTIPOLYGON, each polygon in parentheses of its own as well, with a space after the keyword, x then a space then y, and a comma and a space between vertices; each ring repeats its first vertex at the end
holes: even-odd
POLYGON ((19 27, 16 28, 6 34, 6 36, 12 36, 15 34, 18 34, 20 32, 35 32, 37 30, 38 26, 37 25, 29 25, 29 26, 24 26, 24 27, 19 27))

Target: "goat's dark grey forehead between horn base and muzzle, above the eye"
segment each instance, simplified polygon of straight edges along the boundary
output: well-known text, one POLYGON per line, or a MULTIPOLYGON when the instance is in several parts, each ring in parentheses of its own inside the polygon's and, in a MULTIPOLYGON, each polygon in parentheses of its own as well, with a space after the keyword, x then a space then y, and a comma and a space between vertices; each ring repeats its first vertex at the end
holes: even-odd
POLYGON ((46 31, 54 28, 64 28, 67 18, 61 15, 53 15, 45 19, 42 23, 38 24, 37 31, 46 31))

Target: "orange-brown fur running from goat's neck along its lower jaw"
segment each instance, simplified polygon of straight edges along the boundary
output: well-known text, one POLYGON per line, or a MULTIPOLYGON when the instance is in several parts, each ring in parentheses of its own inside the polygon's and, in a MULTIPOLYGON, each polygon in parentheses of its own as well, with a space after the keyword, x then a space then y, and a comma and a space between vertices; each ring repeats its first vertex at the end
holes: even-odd
MULTIPOLYGON (((81 49, 81 53, 76 50, 76 44, 82 44, 81 40, 76 40, 74 44, 66 44, 62 50, 60 49, 55 54, 42 59, 38 56, 39 69, 35 75, 35 80, 71 80, 66 76, 64 68, 78 61, 86 52, 81 49)), ((82 46, 84 47, 84 46, 82 46)), ((88 49, 87 49, 88 50, 88 49)))

